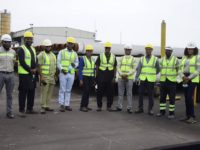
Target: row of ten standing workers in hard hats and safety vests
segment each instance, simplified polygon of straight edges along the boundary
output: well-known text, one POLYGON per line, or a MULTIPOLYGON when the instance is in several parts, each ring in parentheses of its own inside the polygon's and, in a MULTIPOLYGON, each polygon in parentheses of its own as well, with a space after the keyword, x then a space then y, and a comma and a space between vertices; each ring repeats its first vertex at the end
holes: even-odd
MULTIPOLYGON (((1 37, 0 47, 0 91, 6 85, 7 95, 7 117, 14 118, 12 109, 12 93, 14 89, 14 62, 16 53, 11 49, 12 39, 10 35, 1 37)), ((185 48, 181 60, 173 55, 173 48, 165 48, 165 56, 158 59, 152 54, 153 46, 145 46, 145 56, 136 61, 131 55, 132 46, 125 45, 125 54, 117 62, 116 56, 111 52, 112 43, 104 43, 105 52, 99 54, 96 61, 92 58, 93 45, 85 46, 85 55, 78 57, 73 50, 75 39, 67 38, 67 47, 60 50, 57 57, 52 52, 52 43, 49 39, 43 41, 44 48, 38 55, 32 46, 33 34, 30 31, 24 33, 24 44, 17 50, 18 75, 19 75, 19 115, 26 117, 26 114, 35 114, 34 96, 36 88, 36 74, 39 74, 41 85, 41 114, 46 111, 54 111, 49 106, 55 78, 59 73, 59 98, 60 112, 72 111, 70 106, 71 90, 75 79, 75 72, 78 72, 80 86, 83 93, 80 103, 80 111, 92 110, 89 105, 89 97, 92 86, 97 84, 97 111, 102 111, 102 98, 104 93, 107 96, 107 111, 122 111, 124 93, 127 96, 127 112, 133 113, 132 88, 133 82, 139 86, 139 100, 136 114, 144 112, 143 96, 145 90, 148 94, 148 114, 153 115, 154 106, 154 85, 157 82, 157 75, 160 74, 160 112, 157 117, 166 115, 169 97, 169 119, 175 117, 175 96, 177 83, 183 84, 187 123, 196 123, 194 113, 193 94, 199 83, 200 57, 198 48, 194 43, 189 43, 185 48), (58 71, 57 71, 58 70, 58 71), (113 108, 114 82, 118 78, 118 102, 113 108)))

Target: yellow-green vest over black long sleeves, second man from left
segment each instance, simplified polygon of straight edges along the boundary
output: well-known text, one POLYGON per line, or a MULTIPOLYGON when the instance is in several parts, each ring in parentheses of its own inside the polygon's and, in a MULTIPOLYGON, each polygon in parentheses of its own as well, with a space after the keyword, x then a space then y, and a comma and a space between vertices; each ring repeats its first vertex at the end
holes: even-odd
MULTIPOLYGON (((25 45, 22 45, 21 48, 24 50, 24 60, 26 65, 31 67, 31 53, 25 45)), ((35 62, 36 62, 36 51, 35 48, 31 46, 31 50, 33 51, 35 62)), ((18 60, 18 74, 29 74, 20 64, 18 60)))

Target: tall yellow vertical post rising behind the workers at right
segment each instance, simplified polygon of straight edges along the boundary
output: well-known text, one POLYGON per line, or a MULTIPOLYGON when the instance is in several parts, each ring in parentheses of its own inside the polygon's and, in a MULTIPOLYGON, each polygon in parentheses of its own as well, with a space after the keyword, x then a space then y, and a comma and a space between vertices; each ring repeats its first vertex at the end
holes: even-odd
POLYGON ((165 20, 161 23, 161 57, 165 56, 165 46, 166 46, 166 23, 165 20))

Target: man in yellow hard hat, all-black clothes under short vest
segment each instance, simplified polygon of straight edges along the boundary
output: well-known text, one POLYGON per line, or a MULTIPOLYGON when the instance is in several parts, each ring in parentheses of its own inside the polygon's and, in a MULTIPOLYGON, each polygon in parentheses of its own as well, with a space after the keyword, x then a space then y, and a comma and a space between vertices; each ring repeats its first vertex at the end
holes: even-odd
POLYGON ((105 52, 101 53, 96 61, 97 76, 97 111, 102 110, 102 97, 104 92, 107 95, 107 111, 112 111, 113 104, 113 82, 116 78, 117 61, 115 55, 111 53, 112 43, 104 44, 105 52))

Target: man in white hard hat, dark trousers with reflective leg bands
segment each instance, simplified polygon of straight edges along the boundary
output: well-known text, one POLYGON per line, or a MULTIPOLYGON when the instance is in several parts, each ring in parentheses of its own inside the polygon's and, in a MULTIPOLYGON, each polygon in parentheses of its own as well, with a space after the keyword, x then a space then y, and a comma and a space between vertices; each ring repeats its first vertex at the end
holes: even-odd
POLYGON ((174 118, 176 77, 178 75, 178 59, 172 56, 173 49, 165 48, 165 56, 160 61, 160 112, 158 117, 164 116, 166 111, 166 98, 169 96, 169 119, 174 118))

